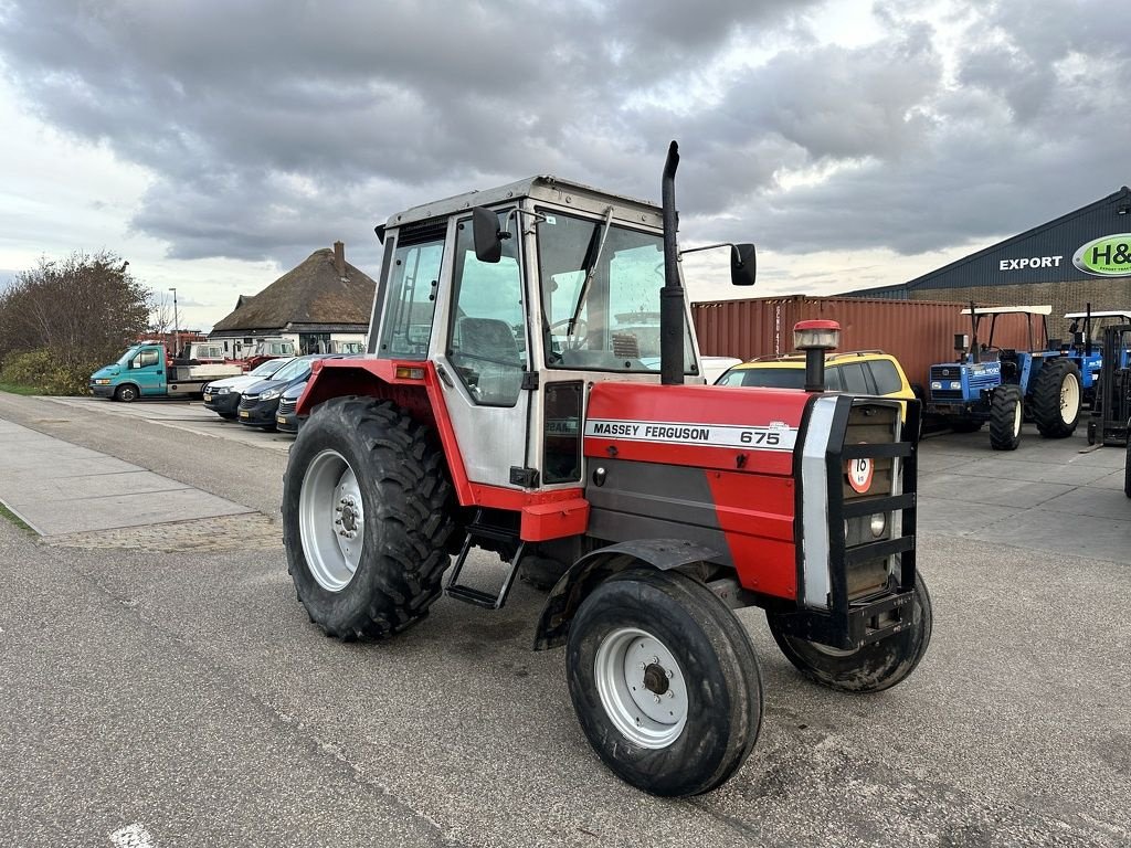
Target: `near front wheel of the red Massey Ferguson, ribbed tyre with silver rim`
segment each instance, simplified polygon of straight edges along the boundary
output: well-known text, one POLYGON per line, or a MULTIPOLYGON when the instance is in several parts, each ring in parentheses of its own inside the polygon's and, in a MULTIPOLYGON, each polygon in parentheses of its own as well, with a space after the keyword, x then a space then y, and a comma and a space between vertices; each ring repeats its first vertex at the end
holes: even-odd
POLYGON ((750 638, 685 574, 633 569, 605 580, 570 624, 566 663, 589 744, 653 795, 716 788, 758 739, 762 684, 750 638))

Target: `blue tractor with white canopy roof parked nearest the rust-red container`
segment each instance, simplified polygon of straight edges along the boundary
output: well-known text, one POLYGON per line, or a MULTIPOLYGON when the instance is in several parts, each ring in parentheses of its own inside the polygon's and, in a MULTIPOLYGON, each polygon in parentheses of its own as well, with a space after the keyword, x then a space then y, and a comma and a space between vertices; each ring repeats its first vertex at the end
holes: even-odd
POLYGON ((1015 450, 1021 424, 1029 419, 1046 439, 1063 439, 1076 432, 1080 417, 1080 367, 1056 349, 1038 345, 1035 317, 1041 318, 1043 340, 1048 338, 1051 305, 975 306, 962 310, 970 317, 972 336, 956 337, 961 354, 956 363, 931 366, 926 409, 942 416, 956 432, 974 432, 990 424, 990 447, 1015 450), (1000 315, 1024 314, 1028 321, 1028 351, 999 348, 993 344, 1000 315), (990 319, 990 336, 978 343, 978 327, 990 319))

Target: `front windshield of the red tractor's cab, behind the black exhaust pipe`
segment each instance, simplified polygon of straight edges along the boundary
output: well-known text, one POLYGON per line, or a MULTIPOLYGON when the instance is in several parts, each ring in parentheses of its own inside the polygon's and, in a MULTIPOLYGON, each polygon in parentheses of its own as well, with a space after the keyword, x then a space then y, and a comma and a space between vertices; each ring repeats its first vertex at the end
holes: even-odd
MULTIPOLYGON (((538 211, 545 216, 538 223, 538 278, 546 365, 659 371, 663 237, 616 224, 605 234, 604 220, 538 211)), ((685 373, 698 373, 689 327, 683 364, 685 373)))

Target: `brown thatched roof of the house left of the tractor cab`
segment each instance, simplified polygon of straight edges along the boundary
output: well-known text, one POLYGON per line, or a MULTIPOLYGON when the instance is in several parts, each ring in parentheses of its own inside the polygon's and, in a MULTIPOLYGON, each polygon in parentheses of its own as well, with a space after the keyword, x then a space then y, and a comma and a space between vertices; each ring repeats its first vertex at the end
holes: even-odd
POLYGON ((282 330, 288 325, 369 327, 377 284, 334 251, 316 250, 259 294, 241 295, 235 311, 213 327, 213 335, 244 330, 282 330))

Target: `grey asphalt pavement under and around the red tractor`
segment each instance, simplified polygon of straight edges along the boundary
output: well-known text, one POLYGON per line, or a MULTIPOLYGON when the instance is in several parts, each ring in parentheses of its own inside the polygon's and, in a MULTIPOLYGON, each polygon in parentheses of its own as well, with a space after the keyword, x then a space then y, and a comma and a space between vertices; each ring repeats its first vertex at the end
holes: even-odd
MULTIPOLYGON (((561 651, 529 650, 541 592, 520 585, 497 613, 444 598, 383 642, 326 639, 278 542, 285 443, 147 406, 0 395, 2 457, 29 456, 12 433, 42 449, 38 434, 245 510, 43 538, 0 521, 2 843, 1131 842, 1122 451, 1028 432, 1010 455, 985 433, 924 441, 921 667, 878 695, 829 692, 743 611, 758 746, 722 789, 664 801, 601 764, 561 651)), ((15 468, 93 459, 6 459, 0 497, 15 468)), ((182 490, 133 494, 166 491, 182 490)))

